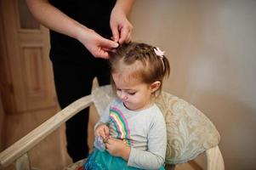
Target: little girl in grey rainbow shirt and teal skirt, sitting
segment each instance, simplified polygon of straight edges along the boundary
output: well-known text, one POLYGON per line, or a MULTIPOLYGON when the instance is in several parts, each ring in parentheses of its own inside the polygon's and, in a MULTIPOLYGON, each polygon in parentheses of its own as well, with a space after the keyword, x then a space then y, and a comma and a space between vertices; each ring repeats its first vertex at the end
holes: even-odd
POLYGON ((95 150, 85 169, 164 169, 166 124, 154 104, 168 76, 168 59, 159 48, 138 42, 122 44, 110 55, 111 101, 96 123, 95 150))

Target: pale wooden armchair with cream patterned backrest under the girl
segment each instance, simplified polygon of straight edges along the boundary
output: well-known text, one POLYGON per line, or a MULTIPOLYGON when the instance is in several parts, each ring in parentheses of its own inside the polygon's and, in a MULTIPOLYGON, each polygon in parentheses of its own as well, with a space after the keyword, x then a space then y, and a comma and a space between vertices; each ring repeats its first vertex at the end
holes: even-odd
MULTIPOLYGON (((28 151, 46 138, 56 128, 90 105, 95 105, 99 114, 113 98, 110 86, 96 88, 91 95, 85 96, 68 105, 62 111, 43 122, 22 139, 0 153, 0 169, 14 164, 16 169, 31 169, 28 151)), ((219 150, 219 133, 213 123, 193 105, 183 99, 162 92, 156 105, 163 112, 168 130, 167 169, 174 169, 176 164, 191 161, 199 154, 206 156, 208 170, 223 170, 224 161, 219 150), (184 135, 185 134, 185 135, 184 135), (185 138, 184 138, 185 136, 185 138)), ((82 161, 65 169, 75 170, 82 161)))

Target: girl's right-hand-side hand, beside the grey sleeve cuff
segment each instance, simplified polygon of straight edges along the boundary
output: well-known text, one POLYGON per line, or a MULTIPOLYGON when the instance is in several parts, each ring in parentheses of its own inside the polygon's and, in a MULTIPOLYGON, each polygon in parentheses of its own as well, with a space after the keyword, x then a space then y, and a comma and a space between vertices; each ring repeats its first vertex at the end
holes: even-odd
POLYGON ((112 156, 121 156, 128 160, 131 148, 122 139, 110 138, 106 141, 105 147, 112 156))

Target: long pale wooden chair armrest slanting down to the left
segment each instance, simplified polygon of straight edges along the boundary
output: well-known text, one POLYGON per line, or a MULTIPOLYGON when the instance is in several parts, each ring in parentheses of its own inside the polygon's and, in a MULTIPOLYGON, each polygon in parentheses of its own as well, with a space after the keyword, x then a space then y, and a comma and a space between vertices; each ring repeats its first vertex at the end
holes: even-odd
POLYGON ((9 164, 14 162, 17 158, 26 154, 28 150, 47 137, 49 133, 52 133, 56 128, 60 127, 60 125, 70 119, 71 116, 76 115, 77 112, 82 111, 92 104, 93 100, 91 95, 77 99, 71 103, 71 105, 68 105, 65 109, 49 118, 46 122, 43 122, 39 127, 26 134, 25 137, 9 146, 6 150, 3 150, 3 152, 0 153, 0 169, 9 166, 9 164))

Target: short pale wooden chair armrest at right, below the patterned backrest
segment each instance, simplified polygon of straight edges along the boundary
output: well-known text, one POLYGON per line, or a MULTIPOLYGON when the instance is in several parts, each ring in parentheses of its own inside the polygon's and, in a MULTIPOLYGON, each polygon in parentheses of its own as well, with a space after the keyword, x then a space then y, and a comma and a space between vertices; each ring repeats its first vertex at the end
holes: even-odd
POLYGON ((206 150, 207 169, 208 170, 224 170, 224 160, 219 150, 219 146, 215 146, 206 150))

